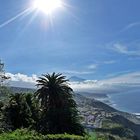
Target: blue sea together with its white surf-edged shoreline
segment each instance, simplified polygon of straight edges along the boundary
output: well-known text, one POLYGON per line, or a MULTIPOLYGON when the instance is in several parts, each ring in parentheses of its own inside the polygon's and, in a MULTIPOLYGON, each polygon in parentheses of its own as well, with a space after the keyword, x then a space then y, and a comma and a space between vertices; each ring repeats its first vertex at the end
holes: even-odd
POLYGON ((139 98, 135 96, 136 98, 135 101, 133 94, 129 94, 129 95, 128 93, 106 94, 106 96, 100 96, 100 98, 97 96, 94 97, 93 94, 93 98, 105 104, 108 104, 117 110, 135 114, 138 118, 140 118, 140 108, 139 108, 140 103, 138 101, 139 98), (133 98, 131 96, 133 96, 133 98))

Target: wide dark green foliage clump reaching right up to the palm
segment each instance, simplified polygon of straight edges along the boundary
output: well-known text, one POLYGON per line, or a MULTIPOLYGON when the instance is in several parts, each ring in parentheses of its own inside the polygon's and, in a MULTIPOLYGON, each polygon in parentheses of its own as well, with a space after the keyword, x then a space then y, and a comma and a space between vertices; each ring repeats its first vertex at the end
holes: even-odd
POLYGON ((12 130, 35 127, 39 120, 39 107, 32 94, 11 94, 4 109, 4 120, 12 130))

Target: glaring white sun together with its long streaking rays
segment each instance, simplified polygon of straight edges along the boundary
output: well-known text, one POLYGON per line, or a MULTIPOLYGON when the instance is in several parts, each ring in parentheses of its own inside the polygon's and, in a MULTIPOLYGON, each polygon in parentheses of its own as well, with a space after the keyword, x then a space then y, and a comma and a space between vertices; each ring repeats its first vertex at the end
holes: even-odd
MULTIPOLYGON (((22 28, 22 31, 21 31, 21 34, 22 34, 24 32, 24 30, 28 27, 28 25, 30 25, 33 22, 33 20, 36 18, 36 16, 40 15, 39 14, 40 12, 43 12, 43 13, 46 14, 45 16, 47 17, 47 22, 49 22, 51 24, 51 26, 53 26, 53 20, 54 20, 53 12, 58 8, 66 10, 67 7, 70 7, 70 6, 67 5, 66 3, 64 3, 62 0, 52 0, 52 1, 49 1, 49 0, 33 0, 29 4, 28 8, 26 8, 22 12, 18 13, 14 17, 9 18, 5 22, 0 23, 0 29, 7 26, 8 24, 14 22, 18 18, 24 18, 27 15, 29 15, 30 13, 32 13, 31 18, 28 21, 27 25, 25 25, 25 27, 22 28)), ((46 21, 46 18, 44 20, 46 21)))

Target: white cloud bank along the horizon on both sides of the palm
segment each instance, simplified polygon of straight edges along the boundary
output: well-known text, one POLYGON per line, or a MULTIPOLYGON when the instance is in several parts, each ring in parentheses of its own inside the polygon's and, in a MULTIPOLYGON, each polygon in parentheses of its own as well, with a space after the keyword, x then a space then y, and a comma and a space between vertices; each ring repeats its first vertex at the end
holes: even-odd
MULTIPOLYGON (((21 73, 12 74, 6 73, 11 77, 9 80, 10 86, 36 88, 36 80, 38 76, 33 74, 27 76, 21 73)), ((70 82, 70 86, 74 91, 113 94, 140 91, 140 72, 133 72, 115 76, 104 80, 85 80, 82 82, 70 82)))

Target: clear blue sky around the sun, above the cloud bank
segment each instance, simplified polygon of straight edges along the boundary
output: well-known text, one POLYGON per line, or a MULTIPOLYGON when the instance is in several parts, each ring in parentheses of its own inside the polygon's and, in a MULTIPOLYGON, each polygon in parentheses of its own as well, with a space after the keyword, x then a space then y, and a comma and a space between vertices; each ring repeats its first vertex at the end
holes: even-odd
POLYGON ((102 80, 140 71, 139 0, 63 0, 69 6, 53 13, 53 23, 35 11, 7 23, 31 1, 0 1, 0 58, 7 72, 102 80))

